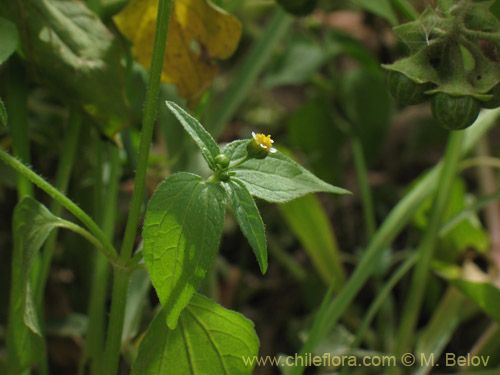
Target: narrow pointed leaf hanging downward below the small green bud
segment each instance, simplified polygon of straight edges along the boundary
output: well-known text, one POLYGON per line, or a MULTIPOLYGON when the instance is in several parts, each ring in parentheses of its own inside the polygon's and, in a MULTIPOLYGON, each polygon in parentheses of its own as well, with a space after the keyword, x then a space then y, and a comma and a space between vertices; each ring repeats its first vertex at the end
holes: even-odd
POLYGON ((233 177, 228 182, 223 182, 222 186, 226 189, 236 221, 252 246, 260 270, 264 274, 267 270, 267 244, 264 222, 259 209, 245 184, 237 178, 233 177))

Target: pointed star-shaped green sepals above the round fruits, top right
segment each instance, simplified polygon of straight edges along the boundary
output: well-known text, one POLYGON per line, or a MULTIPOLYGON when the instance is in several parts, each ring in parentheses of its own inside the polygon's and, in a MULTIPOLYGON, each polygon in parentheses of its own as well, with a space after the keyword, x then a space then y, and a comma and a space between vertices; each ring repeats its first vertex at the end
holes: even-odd
POLYGON ((489 52, 500 48, 500 21, 490 12, 491 5, 463 2, 453 7, 451 17, 428 7, 417 20, 394 29, 412 55, 383 67, 418 83, 435 84, 429 95, 491 99, 490 90, 500 82, 498 56, 489 52), (478 48, 482 43, 488 47, 478 48))

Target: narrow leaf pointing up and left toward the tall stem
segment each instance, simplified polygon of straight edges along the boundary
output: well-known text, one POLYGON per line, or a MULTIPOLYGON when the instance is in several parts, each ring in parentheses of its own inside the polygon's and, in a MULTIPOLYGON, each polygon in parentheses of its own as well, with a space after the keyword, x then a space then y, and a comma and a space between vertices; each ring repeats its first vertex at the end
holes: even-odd
POLYGON ((211 169, 215 169, 214 158, 220 154, 219 146, 205 128, 189 113, 174 102, 166 102, 167 107, 177 117, 181 125, 194 139, 211 169))

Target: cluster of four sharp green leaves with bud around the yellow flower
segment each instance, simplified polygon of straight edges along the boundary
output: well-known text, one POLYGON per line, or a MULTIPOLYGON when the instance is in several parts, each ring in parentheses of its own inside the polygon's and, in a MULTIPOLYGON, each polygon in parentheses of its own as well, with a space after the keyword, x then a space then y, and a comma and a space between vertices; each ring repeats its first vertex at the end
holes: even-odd
POLYGON ((167 324, 174 329, 216 255, 226 202, 231 205, 265 273, 264 223, 252 196, 269 202, 286 202, 312 192, 347 191, 320 180, 280 152, 265 159, 248 159, 248 140, 225 147, 223 154, 232 164, 223 171, 231 173, 225 174, 224 180, 214 178, 221 171, 216 163, 221 154, 219 146, 196 119, 174 103, 167 102, 167 106, 214 171, 208 181, 192 173, 176 173, 158 187, 148 204, 143 229, 144 260, 167 324))

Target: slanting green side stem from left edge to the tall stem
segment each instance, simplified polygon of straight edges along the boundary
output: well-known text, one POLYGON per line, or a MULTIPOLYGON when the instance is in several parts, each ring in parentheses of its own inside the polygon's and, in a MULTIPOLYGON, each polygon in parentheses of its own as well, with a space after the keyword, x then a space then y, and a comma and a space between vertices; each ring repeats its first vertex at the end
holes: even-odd
POLYGON ((54 198, 62 206, 64 206, 69 212, 75 215, 85 226, 90 230, 90 232, 97 238, 97 240, 102 244, 102 249, 106 256, 111 262, 116 262, 118 255, 115 248, 109 242, 104 232, 99 228, 99 226, 87 215, 78 205, 76 205, 71 199, 66 197, 54 186, 49 184, 43 177, 37 175, 30 168, 24 165, 22 162, 17 160, 15 157, 5 152, 0 148, 0 160, 3 160, 7 165, 14 168, 16 171, 21 173, 23 176, 28 178, 31 182, 37 185, 40 189, 45 191, 48 195, 54 198))

